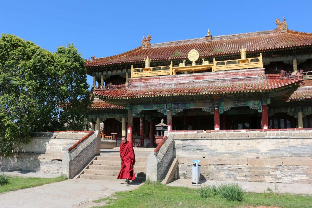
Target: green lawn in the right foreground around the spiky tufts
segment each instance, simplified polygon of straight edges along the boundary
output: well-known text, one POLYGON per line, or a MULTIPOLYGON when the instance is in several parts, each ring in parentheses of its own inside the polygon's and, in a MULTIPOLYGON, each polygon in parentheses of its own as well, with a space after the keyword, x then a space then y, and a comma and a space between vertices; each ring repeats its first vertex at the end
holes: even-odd
MULTIPOLYGON (((208 187, 208 186, 207 186, 208 187)), ((209 190, 209 188, 207 188, 209 190)), ((214 188, 210 186, 210 189, 214 188)), ((309 196, 275 195, 270 198, 263 193, 246 193, 243 201, 228 201, 219 194, 209 194, 202 198, 194 189, 166 186, 162 184, 144 184, 133 191, 116 192, 113 198, 107 199, 112 207, 244 207, 244 206, 278 206, 278 207, 311 207, 309 196)))

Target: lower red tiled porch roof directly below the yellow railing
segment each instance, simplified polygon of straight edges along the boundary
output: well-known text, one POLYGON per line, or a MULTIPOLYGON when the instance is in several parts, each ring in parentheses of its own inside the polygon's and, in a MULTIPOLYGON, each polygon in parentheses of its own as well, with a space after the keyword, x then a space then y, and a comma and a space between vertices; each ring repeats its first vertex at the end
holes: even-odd
POLYGON ((302 75, 286 78, 280 78, 280 75, 266 76, 264 76, 264 69, 257 69, 211 72, 201 75, 163 76, 159 77, 158 80, 155 80, 155 77, 147 77, 130 79, 129 86, 121 89, 95 90, 94 94, 104 99, 129 99, 172 95, 260 92, 275 90, 287 85, 297 85, 302 81, 302 75), (222 74, 224 74, 224 79, 219 78, 222 74), (149 82, 149 80, 153 81, 149 82))

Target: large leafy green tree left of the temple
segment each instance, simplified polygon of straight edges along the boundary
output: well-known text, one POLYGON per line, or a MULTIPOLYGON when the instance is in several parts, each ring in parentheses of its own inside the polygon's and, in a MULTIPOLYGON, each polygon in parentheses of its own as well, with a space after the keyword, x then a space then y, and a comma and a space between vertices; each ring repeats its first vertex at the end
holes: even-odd
POLYGON ((0 154, 27 143, 32 132, 81 130, 93 102, 85 60, 68 44, 51 53, 1 34, 0 154))

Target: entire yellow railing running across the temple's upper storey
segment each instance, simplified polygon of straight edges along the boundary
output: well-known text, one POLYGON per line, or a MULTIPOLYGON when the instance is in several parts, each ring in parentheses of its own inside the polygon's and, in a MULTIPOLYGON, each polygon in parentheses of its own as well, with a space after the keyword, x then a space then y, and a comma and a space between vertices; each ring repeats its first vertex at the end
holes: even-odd
POLYGON ((237 70, 237 69, 253 69, 263 68, 262 54, 259 57, 248 58, 248 59, 236 59, 236 60, 224 60, 216 61, 213 58, 213 63, 205 63, 195 66, 178 66, 173 67, 172 61, 169 66, 155 66, 148 68, 133 68, 131 65, 131 78, 147 77, 147 76, 161 76, 161 75, 176 75, 177 71, 201 71, 211 69, 214 71, 225 71, 225 70, 237 70))

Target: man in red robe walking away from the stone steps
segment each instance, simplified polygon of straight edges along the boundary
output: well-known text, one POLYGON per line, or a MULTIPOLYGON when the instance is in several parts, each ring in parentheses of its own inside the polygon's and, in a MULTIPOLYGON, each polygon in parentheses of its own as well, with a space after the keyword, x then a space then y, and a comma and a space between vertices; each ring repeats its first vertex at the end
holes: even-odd
POLYGON ((132 143, 127 141, 125 136, 121 137, 120 144, 121 168, 118 174, 118 179, 126 179, 125 184, 129 184, 129 180, 135 180, 133 165, 135 156, 132 143))

